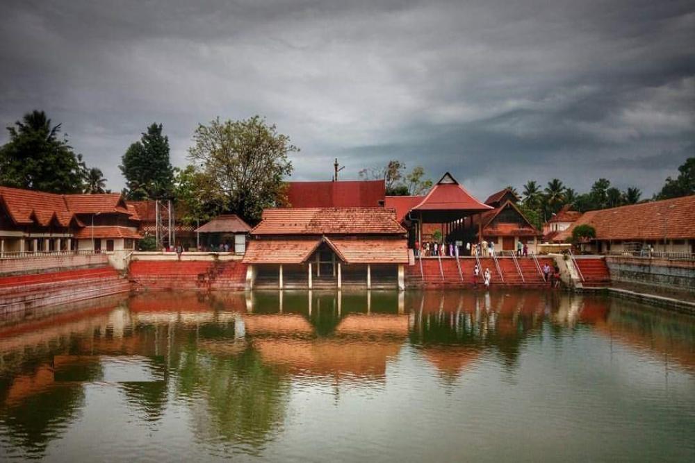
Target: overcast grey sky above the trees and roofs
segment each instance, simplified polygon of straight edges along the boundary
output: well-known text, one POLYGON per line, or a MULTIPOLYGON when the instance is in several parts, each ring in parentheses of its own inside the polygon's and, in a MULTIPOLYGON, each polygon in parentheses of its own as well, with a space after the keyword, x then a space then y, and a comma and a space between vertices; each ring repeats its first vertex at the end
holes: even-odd
POLYGON ((480 196, 599 176, 651 195, 695 155, 692 0, 1 3, 0 124, 47 111, 114 190, 148 124, 184 165, 216 116, 277 124, 294 179, 398 158, 480 196))

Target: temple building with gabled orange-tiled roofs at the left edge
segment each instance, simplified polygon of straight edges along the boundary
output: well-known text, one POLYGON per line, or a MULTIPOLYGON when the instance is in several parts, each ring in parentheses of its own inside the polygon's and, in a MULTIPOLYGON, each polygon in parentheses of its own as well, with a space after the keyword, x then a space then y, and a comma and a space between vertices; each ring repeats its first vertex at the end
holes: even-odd
POLYGON ((0 254, 135 249, 140 217, 119 193, 0 187, 0 254))

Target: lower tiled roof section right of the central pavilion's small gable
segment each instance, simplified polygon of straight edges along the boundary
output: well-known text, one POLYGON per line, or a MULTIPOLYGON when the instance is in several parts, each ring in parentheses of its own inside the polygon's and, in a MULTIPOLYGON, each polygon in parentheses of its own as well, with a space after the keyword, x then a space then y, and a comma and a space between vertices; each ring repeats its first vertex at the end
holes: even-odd
POLYGON ((348 264, 407 264, 407 239, 326 239, 348 264))

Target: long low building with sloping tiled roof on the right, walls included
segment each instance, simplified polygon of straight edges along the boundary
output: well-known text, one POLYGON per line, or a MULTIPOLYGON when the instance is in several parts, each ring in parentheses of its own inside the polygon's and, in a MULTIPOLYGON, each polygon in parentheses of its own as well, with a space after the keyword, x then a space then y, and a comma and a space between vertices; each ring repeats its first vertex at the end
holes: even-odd
POLYGON ((695 252, 695 196, 584 212, 569 228, 557 233, 553 241, 571 240, 574 228, 584 224, 596 230, 596 239, 589 246, 591 251, 653 246, 655 251, 695 252))

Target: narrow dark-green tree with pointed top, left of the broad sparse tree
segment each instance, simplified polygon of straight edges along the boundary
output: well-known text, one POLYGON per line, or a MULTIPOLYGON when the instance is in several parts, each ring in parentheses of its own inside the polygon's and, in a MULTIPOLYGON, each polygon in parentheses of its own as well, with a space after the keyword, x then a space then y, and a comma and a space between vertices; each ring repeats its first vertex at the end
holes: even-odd
POLYGON ((152 124, 129 146, 119 166, 126 178, 129 199, 158 199, 172 195, 174 170, 169 159, 169 137, 162 124, 152 124))

